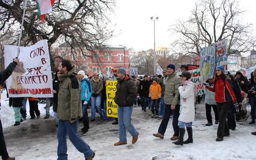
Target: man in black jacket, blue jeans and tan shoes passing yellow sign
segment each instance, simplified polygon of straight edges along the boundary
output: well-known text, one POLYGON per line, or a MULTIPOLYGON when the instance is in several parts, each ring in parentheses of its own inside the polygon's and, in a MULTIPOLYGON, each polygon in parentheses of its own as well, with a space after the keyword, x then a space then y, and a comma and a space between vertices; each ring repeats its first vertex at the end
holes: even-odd
POLYGON ((132 144, 138 139, 138 132, 131 123, 132 107, 136 97, 136 84, 126 75, 123 68, 118 70, 115 103, 118 104, 119 141, 115 146, 127 144, 126 129, 132 135, 132 144))

